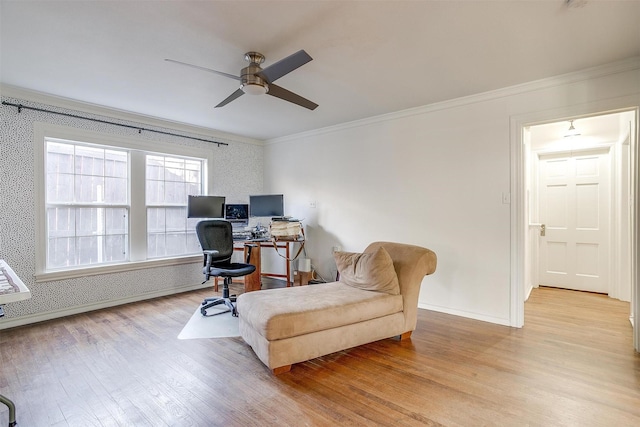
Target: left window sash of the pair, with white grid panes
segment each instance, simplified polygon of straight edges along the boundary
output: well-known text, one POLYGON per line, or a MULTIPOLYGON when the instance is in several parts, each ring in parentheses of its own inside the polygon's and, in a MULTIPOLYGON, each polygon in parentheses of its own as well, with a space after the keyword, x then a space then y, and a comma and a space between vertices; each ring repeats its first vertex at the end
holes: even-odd
POLYGON ((46 141, 47 268, 127 261, 126 151, 46 141))

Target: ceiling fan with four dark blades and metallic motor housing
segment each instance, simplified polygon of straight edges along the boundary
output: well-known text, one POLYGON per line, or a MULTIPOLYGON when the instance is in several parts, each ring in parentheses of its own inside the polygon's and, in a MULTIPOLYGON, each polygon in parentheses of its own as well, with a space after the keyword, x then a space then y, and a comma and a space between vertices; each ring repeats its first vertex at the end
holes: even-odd
POLYGON ((209 71, 220 76, 229 77, 234 80, 239 80, 240 88, 216 105, 216 108, 224 107, 245 93, 249 95, 264 95, 266 93, 271 96, 275 96, 276 98, 284 99, 285 101, 300 105, 301 107, 308 108, 309 110, 315 110, 318 106, 318 104, 311 102, 298 94, 273 84, 273 82, 278 80, 280 77, 289 74, 296 68, 303 66, 313 59, 304 50, 299 50, 298 52, 289 55, 266 68, 260 67, 260 64, 264 62, 264 55, 261 53, 247 52, 244 55, 244 59, 249 62, 249 65, 240 71, 240 76, 234 76, 233 74, 224 73, 222 71, 200 67, 199 65, 187 64, 186 62, 176 61, 175 59, 165 59, 165 61, 186 65, 199 70, 209 71))

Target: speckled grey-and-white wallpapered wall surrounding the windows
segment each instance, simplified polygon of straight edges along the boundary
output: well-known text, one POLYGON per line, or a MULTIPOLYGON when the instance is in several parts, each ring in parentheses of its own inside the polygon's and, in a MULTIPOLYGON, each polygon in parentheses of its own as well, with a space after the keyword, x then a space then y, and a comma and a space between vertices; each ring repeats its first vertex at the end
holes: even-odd
MULTIPOLYGON (((136 125, 132 122, 19 99, 3 97, 2 101, 136 125)), ((210 172, 214 174, 212 194, 225 195, 228 202, 239 203, 248 201, 249 194, 262 191, 261 144, 211 138, 229 143, 228 146, 218 147, 207 142, 152 132, 143 131, 139 134, 135 129, 52 113, 27 109, 19 113, 15 107, 0 106, 0 258, 7 261, 32 293, 31 299, 5 307, 7 319, 34 315, 56 317, 55 313, 63 314, 74 310, 79 312, 93 307, 113 305, 120 300, 144 299, 145 296, 175 293, 195 287, 202 281, 199 264, 186 264, 35 283, 34 242, 35 219, 38 213, 35 212, 34 199, 34 122, 127 136, 132 139, 210 148, 214 157, 214 164, 210 168, 210 172)), ((173 129, 157 129, 187 135, 173 129)), ((203 137, 195 134, 193 136, 203 137)))

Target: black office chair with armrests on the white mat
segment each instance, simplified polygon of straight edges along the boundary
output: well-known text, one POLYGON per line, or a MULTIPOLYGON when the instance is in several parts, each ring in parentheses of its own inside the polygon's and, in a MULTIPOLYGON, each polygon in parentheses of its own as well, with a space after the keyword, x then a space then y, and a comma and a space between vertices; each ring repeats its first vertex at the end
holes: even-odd
POLYGON ((204 274, 205 283, 211 276, 224 278, 222 286, 222 297, 205 298, 200 307, 203 316, 208 315, 207 309, 214 305, 224 304, 229 310, 216 314, 227 313, 237 316, 235 295, 229 295, 229 285, 234 277, 246 276, 256 271, 256 266, 249 264, 251 261, 251 246, 249 246, 247 263, 231 262, 233 254, 233 230, 231 223, 224 220, 205 220, 196 224, 196 234, 204 252, 204 274))

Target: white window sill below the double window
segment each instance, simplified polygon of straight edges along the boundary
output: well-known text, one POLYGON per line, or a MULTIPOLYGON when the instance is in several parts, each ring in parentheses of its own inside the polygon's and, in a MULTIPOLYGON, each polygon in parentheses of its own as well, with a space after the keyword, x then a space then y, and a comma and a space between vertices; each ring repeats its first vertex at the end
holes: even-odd
POLYGON ((177 258, 162 258, 145 261, 132 261, 123 264, 101 265, 96 267, 74 268, 70 270, 56 270, 35 274, 36 283, 55 282, 59 280, 75 279, 78 277, 98 276, 102 274, 121 273, 124 271, 143 270, 171 265, 191 264, 202 262, 202 255, 189 255, 177 258))

